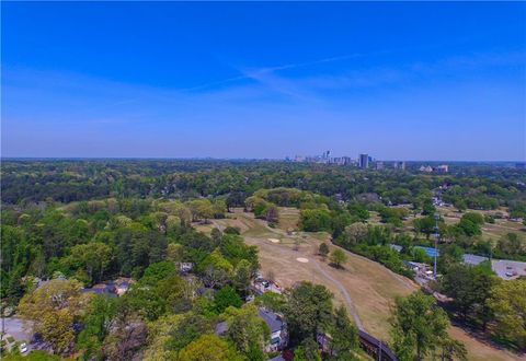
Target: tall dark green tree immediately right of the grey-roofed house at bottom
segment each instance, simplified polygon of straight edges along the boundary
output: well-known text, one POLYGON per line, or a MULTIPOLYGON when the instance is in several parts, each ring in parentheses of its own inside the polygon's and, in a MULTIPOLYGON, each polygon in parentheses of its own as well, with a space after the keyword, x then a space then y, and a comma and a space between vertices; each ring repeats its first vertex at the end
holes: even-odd
POLYGON ((286 299, 284 315, 293 346, 306 339, 316 340, 316 334, 330 326, 332 293, 324 286, 304 281, 289 290, 286 299))

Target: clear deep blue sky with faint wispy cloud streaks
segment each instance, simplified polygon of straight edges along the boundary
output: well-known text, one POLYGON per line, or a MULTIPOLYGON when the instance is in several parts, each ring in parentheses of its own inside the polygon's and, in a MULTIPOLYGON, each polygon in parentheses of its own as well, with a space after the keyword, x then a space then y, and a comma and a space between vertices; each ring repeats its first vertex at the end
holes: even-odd
POLYGON ((526 3, 2 2, 2 156, 526 160, 526 3))

